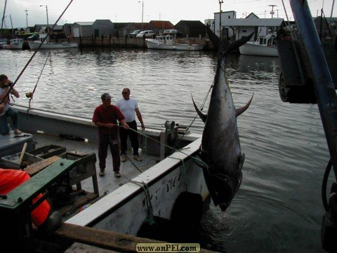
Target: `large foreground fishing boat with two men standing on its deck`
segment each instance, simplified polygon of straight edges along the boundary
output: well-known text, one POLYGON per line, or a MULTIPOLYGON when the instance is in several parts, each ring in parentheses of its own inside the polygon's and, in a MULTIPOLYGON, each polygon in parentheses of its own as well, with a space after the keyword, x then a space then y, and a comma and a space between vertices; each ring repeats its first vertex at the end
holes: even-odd
MULTIPOLYGON (((105 176, 98 177, 95 167, 98 129, 91 119, 35 109, 27 110, 17 105, 15 108, 20 113, 22 134, 0 136, 0 156, 5 164, 13 167, 15 156, 18 157, 18 153, 22 151, 22 145, 27 143, 25 151, 27 160, 28 157, 43 160, 30 164, 26 171, 37 169, 40 166, 38 164, 42 163, 50 165, 37 175, 44 171, 48 173, 48 171, 65 169, 64 167, 72 161, 76 165, 75 171, 74 164, 70 164, 69 169, 66 170, 70 174, 70 185, 74 189, 71 195, 82 197, 59 209, 65 221, 53 233, 54 239, 67 238, 73 242, 79 241, 97 247, 129 251, 131 242, 150 241, 150 239, 137 237, 144 224, 154 219, 169 221, 175 201, 181 194, 197 195, 198 200, 207 207, 209 191, 202 169, 194 162, 201 142, 199 134, 192 134, 169 121, 165 122, 162 129, 146 129, 143 135, 139 135, 140 147, 142 147, 140 154, 143 161, 137 162, 128 158, 125 163, 121 163, 122 176, 117 179, 113 176, 112 158, 108 155, 105 176), (62 153, 57 155, 55 153, 57 150, 62 153), (81 160, 84 160, 83 163, 81 160), (62 165, 57 165, 56 163, 60 161, 62 165), (77 193, 79 191, 81 194, 77 193), (81 209, 82 211, 79 212, 81 209), (91 232, 86 237, 84 231, 88 230, 91 232), (119 238, 119 242, 109 242, 110 246, 102 241, 93 243, 93 235, 103 233, 102 231, 107 236, 114 235, 114 240, 119 238), (79 234, 81 234, 80 240, 76 239, 79 234), (124 244, 126 240, 128 243, 124 244)), ((128 153, 131 154, 131 151, 129 150, 128 153)), ((50 185, 50 183, 46 184, 50 185)), ((48 191, 48 187, 44 190, 48 191)), ((1 211, 8 210, 7 204, 10 203, 10 199, 11 196, 7 195, 6 202, 0 200, 1 211)), ((189 195, 184 202, 192 206, 190 199, 189 195)), ((194 209, 193 213, 201 212, 201 209, 202 207, 194 209)), ((29 209, 25 212, 29 212, 29 209)), ((18 215, 15 212, 10 213, 9 216, 18 215)), ((17 225, 20 227, 27 224, 17 225)), ((13 223, 8 226, 13 226, 13 223)), ((12 249, 13 245, 18 245, 18 251, 14 250, 15 252, 25 252, 25 247, 29 244, 27 241, 36 235, 34 231, 29 231, 27 234, 21 231, 15 235, 8 231, 6 241, 15 242, 11 243, 12 249)), ((134 250, 136 247, 133 248, 134 250)))

